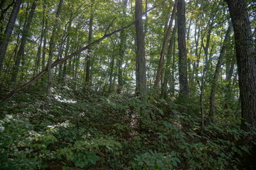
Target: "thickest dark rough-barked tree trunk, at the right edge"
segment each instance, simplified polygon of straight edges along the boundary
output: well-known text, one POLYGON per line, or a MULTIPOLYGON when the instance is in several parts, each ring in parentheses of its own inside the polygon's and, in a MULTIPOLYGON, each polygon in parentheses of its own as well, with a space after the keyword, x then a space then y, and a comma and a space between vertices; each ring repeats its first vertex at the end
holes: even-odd
POLYGON ((245 123, 256 128, 256 53, 255 42, 244 0, 225 0, 228 3, 235 34, 235 50, 238 62, 242 128, 245 123))

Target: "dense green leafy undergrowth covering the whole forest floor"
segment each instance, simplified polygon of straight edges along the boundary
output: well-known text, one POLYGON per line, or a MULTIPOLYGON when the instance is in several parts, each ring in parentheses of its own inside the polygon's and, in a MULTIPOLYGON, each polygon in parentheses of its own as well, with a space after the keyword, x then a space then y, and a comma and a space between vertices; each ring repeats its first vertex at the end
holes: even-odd
POLYGON ((256 130, 201 127, 195 101, 52 90, 49 108, 36 87, 1 104, 0 169, 255 169, 256 130))

